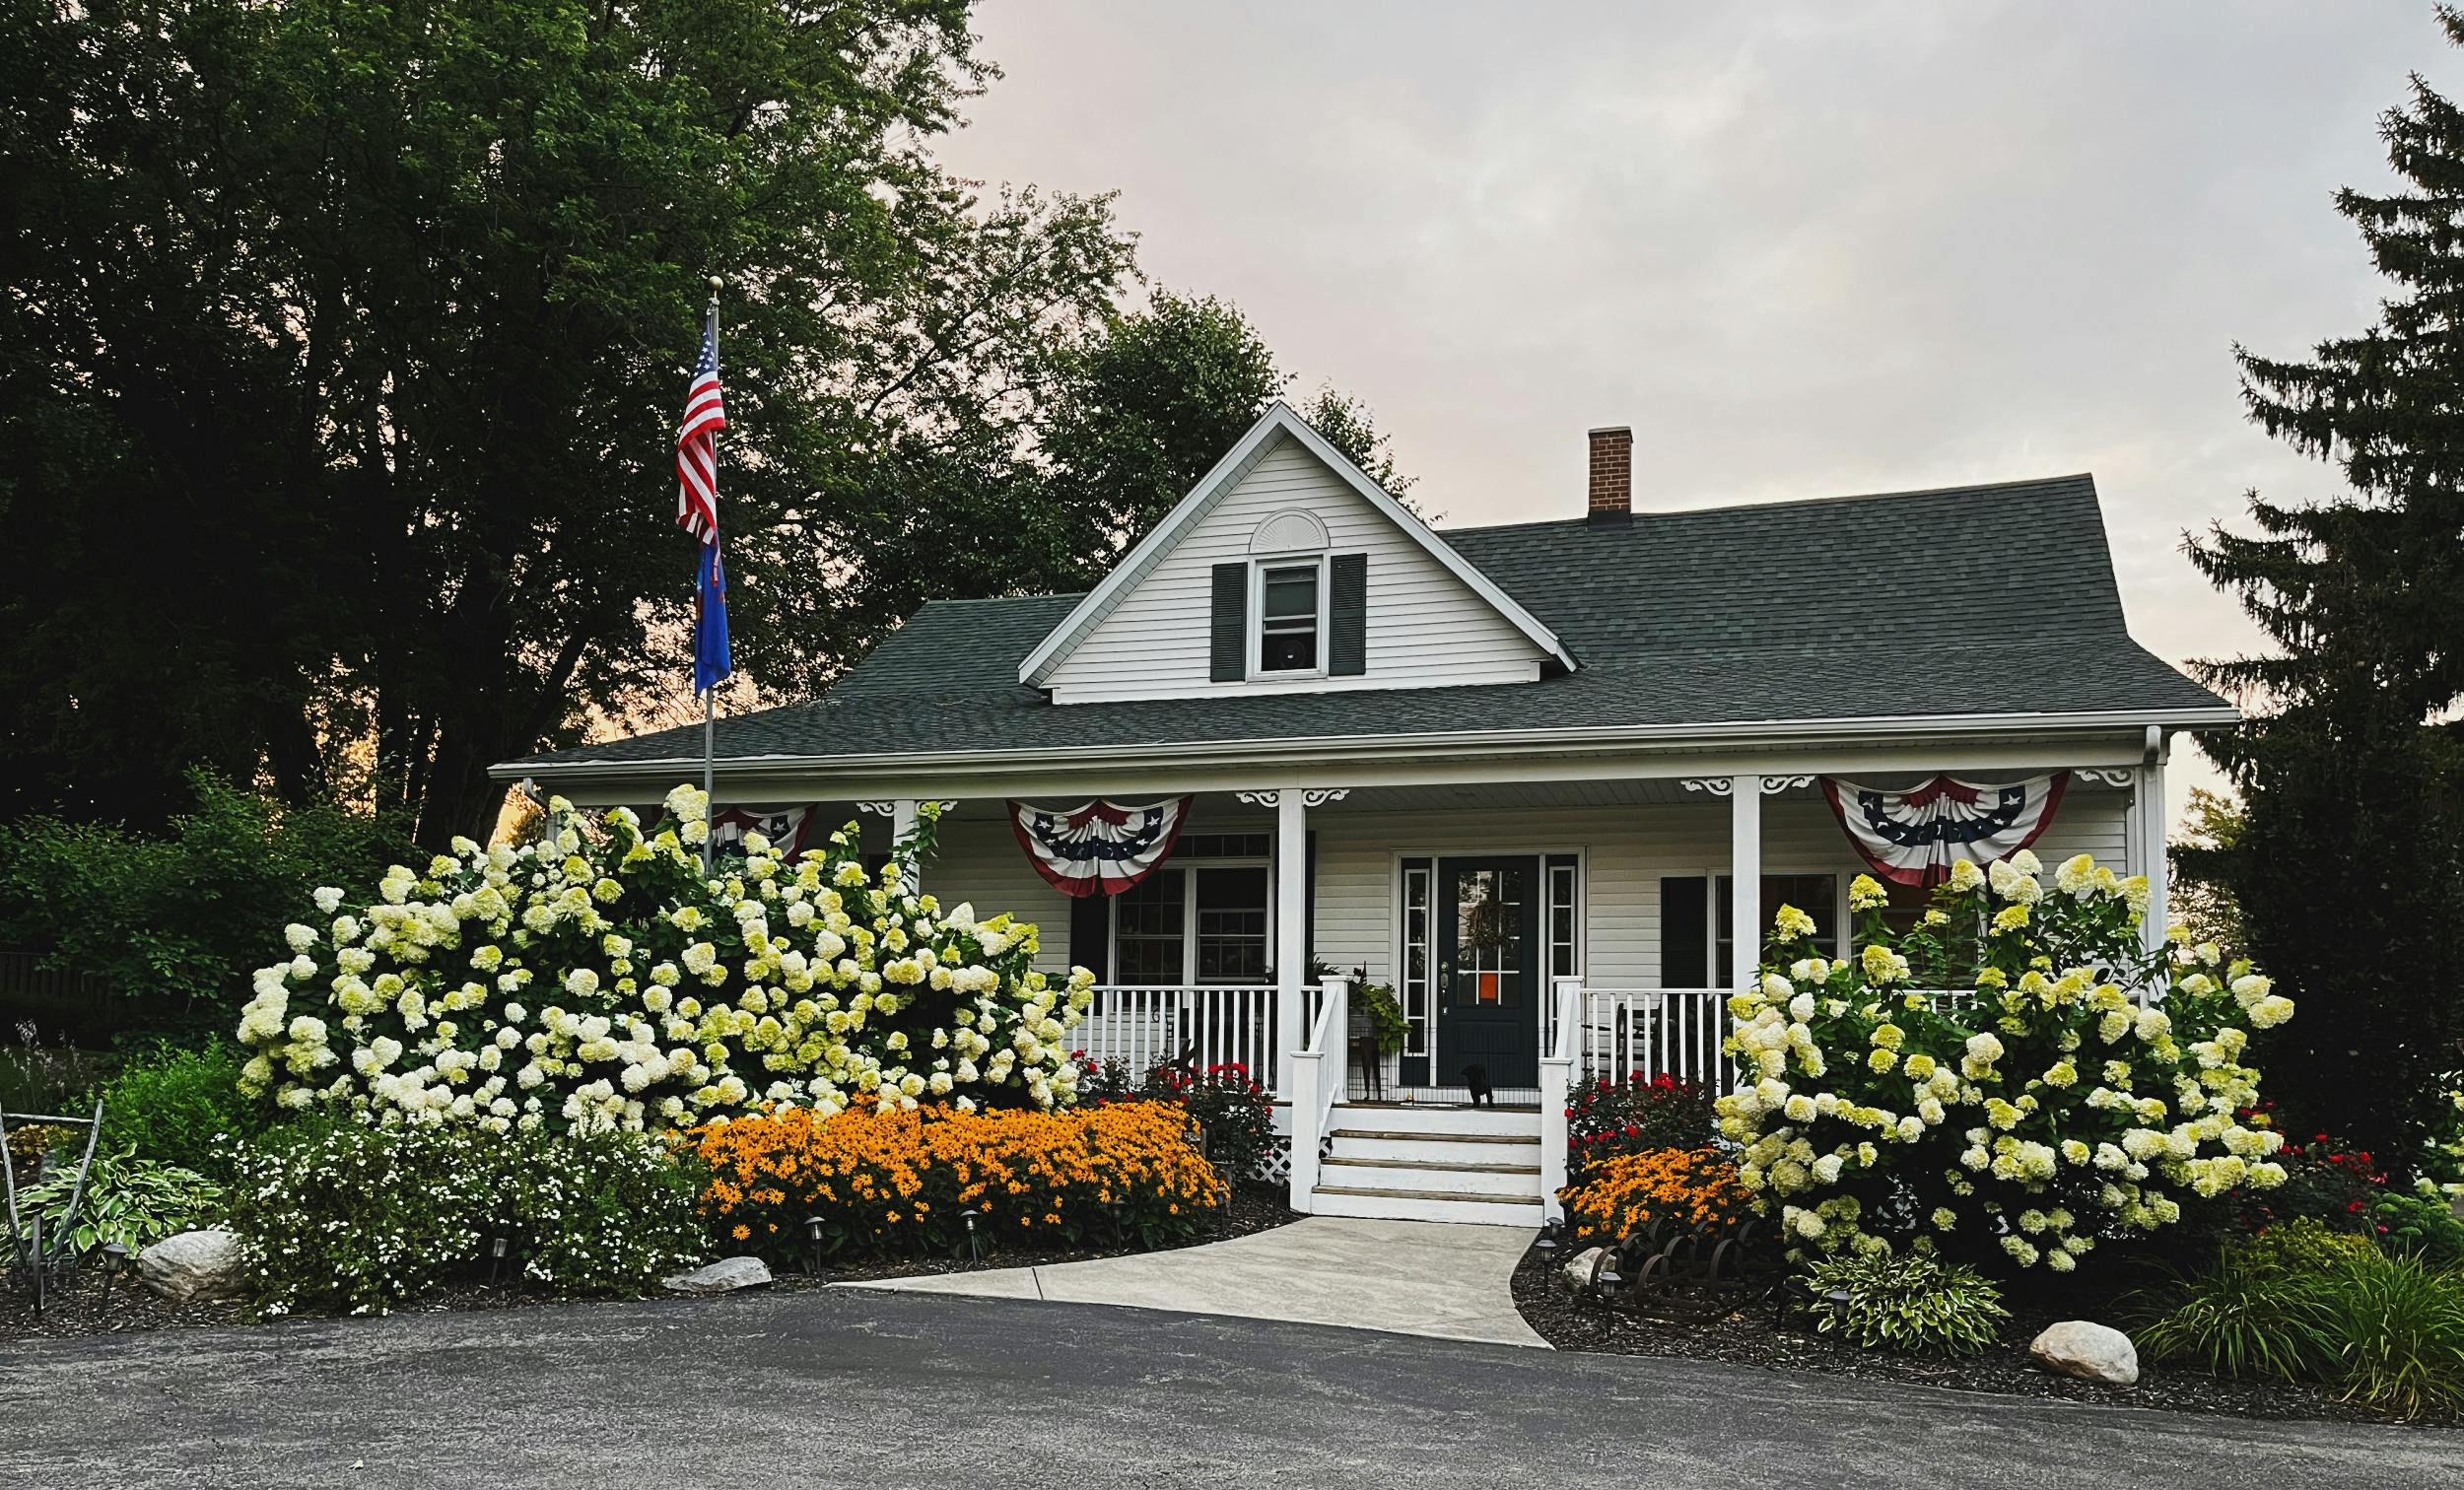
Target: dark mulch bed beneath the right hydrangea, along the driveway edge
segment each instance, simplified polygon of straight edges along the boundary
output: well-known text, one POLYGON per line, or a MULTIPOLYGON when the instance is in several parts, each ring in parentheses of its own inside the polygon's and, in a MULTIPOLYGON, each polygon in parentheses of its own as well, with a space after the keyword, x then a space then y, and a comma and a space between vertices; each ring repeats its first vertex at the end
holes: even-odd
MULTIPOLYGON (((1523 1254, 1523 1263, 1513 1278, 1515 1308, 1523 1310, 1523 1320, 1557 1350, 1717 1359, 1772 1372, 1826 1372, 1868 1382, 1912 1382, 1919 1387, 1956 1387, 1961 1391, 2094 1401, 2104 1406, 2154 1406, 2240 1419, 2385 1421, 2380 1414, 2338 1401, 2331 1389, 2309 1382, 2230 1382, 2181 1367, 2141 1364, 2134 1387, 2104 1387, 2055 1377, 2035 1367, 2028 1359, 2028 1342, 2045 1325, 2102 1318, 2097 1308, 2085 1308, 2087 1300, 2070 1300, 2070 1310, 2006 1300, 2011 1303, 2011 1325, 2003 1345, 1944 1362, 1863 1350, 1831 1335, 1818 1335, 1811 1320, 1791 1318, 1777 1300, 1708 1315, 1685 1315, 1678 1310, 1636 1315, 1624 1308, 1611 1310, 1594 1300, 1579 1300, 1567 1291, 1560 1271, 1565 1256, 1555 1254, 1552 1261, 1550 1254, 1533 1249, 1523 1254)), ((2102 1305, 2109 1300, 2094 1303, 2102 1305)))

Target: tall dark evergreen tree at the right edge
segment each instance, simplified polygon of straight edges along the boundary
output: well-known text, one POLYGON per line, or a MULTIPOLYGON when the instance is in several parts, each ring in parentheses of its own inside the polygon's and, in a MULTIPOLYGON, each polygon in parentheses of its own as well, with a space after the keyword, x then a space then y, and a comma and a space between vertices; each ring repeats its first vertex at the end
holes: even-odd
MULTIPOLYGON (((2464 44, 2464 15, 2439 25, 2464 44)), ((2190 559, 2277 645, 2200 665, 2252 712, 2200 736, 2247 808, 2200 860, 2304 1005, 2269 1093, 2405 1172, 2464 1066, 2464 111, 2415 76, 2380 133, 2402 185, 2336 195, 2390 281, 2378 323, 2309 360, 2235 347, 2250 416, 2348 493, 2252 493, 2255 532, 2190 559)))

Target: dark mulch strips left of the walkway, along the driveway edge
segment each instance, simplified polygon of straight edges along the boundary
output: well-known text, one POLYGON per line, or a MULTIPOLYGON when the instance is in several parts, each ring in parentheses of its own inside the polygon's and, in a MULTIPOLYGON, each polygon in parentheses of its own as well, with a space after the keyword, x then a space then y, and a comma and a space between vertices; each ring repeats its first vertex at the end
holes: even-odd
MULTIPOLYGON (((1195 1236, 1183 1246, 1198 1246, 1205 1241, 1227 1241, 1232 1236, 1249 1236, 1254 1231, 1271 1231, 1286 1222, 1299 1222, 1301 1214, 1286 1204, 1286 1190, 1281 1185, 1237 1185, 1232 1190, 1232 1204, 1222 1222, 1195 1236)), ((1131 1256, 1146 1251, 1143 1246, 1119 1244, 1119 1246, 1089 1246, 1077 1251, 995 1251, 986 1249, 983 1258, 966 1256, 907 1256, 907 1258, 865 1258, 855 1263, 830 1263, 821 1276, 781 1268, 771 1288, 781 1293, 806 1293, 813 1288, 828 1288, 830 1283, 857 1283, 872 1278, 917 1278, 929 1273, 978 1273, 991 1268, 1023 1268, 1042 1263, 1077 1263, 1104 1256, 1131 1256)), ((39 1340, 39 1337, 71 1337, 71 1335, 123 1335, 133 1330, 195 1330, 212 1325, 246 1325, 251 1323, 249 1305, 244 1303, 170 1303, 158 1298, 150 1288, 138 1283, 133 1276, 118 1278, 106 1293, 101 1281, 94 1276, 79 1278, 76 1286, 62 1295, 52 1293, 47 1300, 42 1320, 34 1318, 34 1295, 17 1288, 12 1281, 0 1278, 0 1345, 10 1340, 39 1340)), ((441 1313, 441 1310, 495 1310, 495 1308, 530 1308, 542 1303, 564 1303, 554 1293, 525 1291, 525 1288, 488 1288, 485 1283, 468 1283, 448 1288, 444 1293, 424 1295, 414 1303, 402 1305, 397 1313, 441 1313)))

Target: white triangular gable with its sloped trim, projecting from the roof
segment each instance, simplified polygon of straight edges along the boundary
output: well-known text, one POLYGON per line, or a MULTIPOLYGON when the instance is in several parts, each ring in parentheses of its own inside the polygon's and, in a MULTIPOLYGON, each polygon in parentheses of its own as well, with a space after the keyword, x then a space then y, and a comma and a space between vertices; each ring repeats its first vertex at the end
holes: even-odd
POLYGON ((1493 586, 1481 594, 1483 579, 1427 530, 1414 532, 1417 520, 1392 497, 1372 497, 1365 478, 1335 465, 1340 456, 1313 451, 1313 431, 1264 433, 1190 493, 1202 505, 1185 502, 1180 525, 1165 520, 1153 534, 1161 544, 1124 559, 1114 579, 1126 584, 1096 589, 1027 660, 1023 672, 1050 687, 1052 702, 1530 682, 1562 655, 1520 606, 1493 586), (1368 554, 1368 672, 1212 682, 1215 564, 1296 552, 1368 554))

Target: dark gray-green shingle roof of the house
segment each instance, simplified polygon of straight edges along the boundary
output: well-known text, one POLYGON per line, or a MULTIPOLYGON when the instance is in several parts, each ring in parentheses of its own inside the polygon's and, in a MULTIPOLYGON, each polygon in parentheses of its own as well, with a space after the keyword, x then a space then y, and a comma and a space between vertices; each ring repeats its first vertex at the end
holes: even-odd
MULTIPOLYGON (((1540 682, 1055 707, 1020 660, 1079 596, 934 601, 719 759, 1358 734, 2215 709, 2131 640, 2087 475, 1441 534, 1579 670, 1540 682)), ((700 727, 532 763, 700 756, 700 727)))

